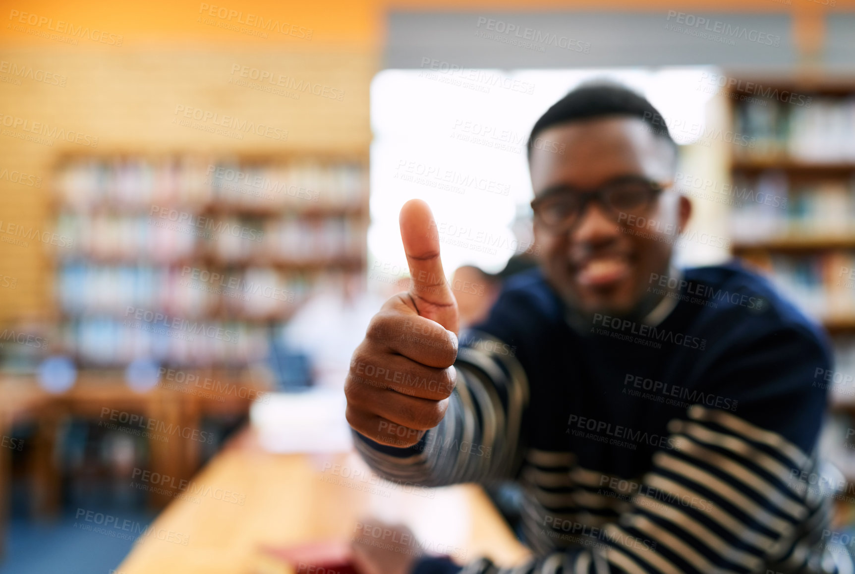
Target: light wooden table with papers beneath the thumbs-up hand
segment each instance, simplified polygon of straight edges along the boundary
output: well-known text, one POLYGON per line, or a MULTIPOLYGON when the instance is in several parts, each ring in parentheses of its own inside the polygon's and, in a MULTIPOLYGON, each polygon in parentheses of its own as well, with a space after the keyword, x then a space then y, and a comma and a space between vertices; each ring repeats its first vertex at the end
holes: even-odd
POLYGON ((455 547, 465 561, 484 555, 516 565, 528 557, 480 487, 413 494, 369 476, 356 453, 270 454, 246 431, 193 478, 185 494, 195 491, 197 500, 174 500, 156 518, 152 532, 166 540, 137 541, 116 574, 266 574, 275 570, 262 546, 349 541, 369 516, 407 524, 429 546, 455 547), (244 504, 217 499, 226 492, 244 504))

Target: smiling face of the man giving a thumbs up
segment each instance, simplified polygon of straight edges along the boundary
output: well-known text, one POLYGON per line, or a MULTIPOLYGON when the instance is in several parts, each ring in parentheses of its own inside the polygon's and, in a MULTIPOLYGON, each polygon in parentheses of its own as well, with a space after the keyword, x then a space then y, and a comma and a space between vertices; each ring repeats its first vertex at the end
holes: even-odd
MULTIPOLYGON (((593 191, 627 176, 662 185, 673 180, 675 151, 639 119, 575 121, 545 129, 539 138, 556 142, 557 149, 563 145, 564 153, 532 151, 535 198, 560 187, 566 193, 593 191)), ((643 220, 596 201, 588 202, 573 226, 562 231, 535 216, 544 274, 569 305, 586 315, 622 316, 650 311, 661 299, 647 293, 649 279, 652 273, 667 274, 672 245, 691 204, 673 190, 655 197, 643 220)))

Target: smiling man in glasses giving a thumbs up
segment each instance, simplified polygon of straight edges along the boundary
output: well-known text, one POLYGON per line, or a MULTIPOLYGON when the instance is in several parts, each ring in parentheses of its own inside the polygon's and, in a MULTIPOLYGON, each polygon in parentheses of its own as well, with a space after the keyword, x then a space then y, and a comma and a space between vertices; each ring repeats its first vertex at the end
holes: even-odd
POLYGON ((828 496, 804 478, 827 344, 736 264, 672 268, 691 204, 659 117, 634 92, 583 86, 537 121, 540 269, 507 281, 459 350, 433 217, 404 204, 412 286, 374 317, 345 386, 357 448, 393 480, 520 482, 537 559, 515 572, 839 571, 828 496))

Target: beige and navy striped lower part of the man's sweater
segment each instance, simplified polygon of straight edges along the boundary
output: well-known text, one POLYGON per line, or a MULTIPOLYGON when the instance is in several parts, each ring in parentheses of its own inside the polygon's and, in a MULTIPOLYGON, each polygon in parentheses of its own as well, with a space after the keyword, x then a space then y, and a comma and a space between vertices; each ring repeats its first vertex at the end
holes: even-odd
MULTIPOLYGON (((392 480, 521 482, 523 534, 538 558, 513 572, 852 572, 845 551, 823 541, 830 500, 793 482, 794 470, 817 471, 811 453, 693 405, 670 421, 675 448, 657 451, 645 476, 604 476, 573 453, 525 444, 526 376, 515 358, 486 348, 460 350, 457 389, 422 452, 357 448, 392 480)), ((464 569, 498 571, 487 560, 464 569)))

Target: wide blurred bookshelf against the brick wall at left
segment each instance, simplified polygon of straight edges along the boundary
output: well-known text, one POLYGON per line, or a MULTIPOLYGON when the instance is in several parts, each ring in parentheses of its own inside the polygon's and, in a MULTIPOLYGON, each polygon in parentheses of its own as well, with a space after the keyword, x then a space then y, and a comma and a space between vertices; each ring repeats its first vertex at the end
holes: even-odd
POLYGON ((63 158, 64 350, 92 368, 141 357, 174 367, 263 360, 313 285, 364 269, 367 161, 63 158))

